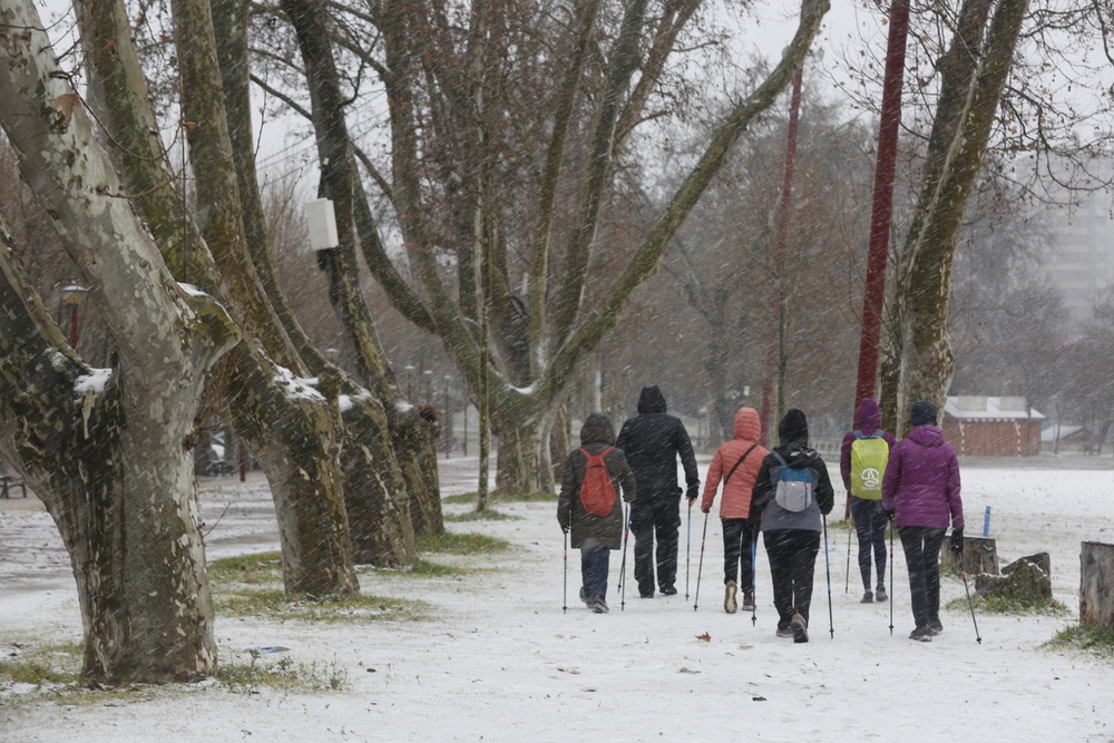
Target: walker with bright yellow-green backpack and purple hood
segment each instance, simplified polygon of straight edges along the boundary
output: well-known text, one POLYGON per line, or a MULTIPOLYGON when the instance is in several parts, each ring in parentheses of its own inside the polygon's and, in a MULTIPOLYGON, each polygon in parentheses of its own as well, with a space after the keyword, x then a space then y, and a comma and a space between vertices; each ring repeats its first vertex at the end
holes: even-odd
POLYGON ((862 603, 885 602, 886 595, 886 511, 882 509, 882 477, 889 460, 892 433, 879 428, 882 413, 878 402, 867 398, 854 409, 854 430, 843 437, 839 469, 851 502, 851 518, 859 539, 859 573, 862 575, 862 603), (878 584, 871 590, 870 564, 878 584))

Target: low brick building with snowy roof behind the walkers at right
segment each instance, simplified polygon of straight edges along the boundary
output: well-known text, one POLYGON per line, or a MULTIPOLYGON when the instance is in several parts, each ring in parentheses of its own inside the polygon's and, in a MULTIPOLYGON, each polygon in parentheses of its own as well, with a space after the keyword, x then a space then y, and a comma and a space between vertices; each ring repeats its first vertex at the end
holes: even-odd
POLYGON ((1035 457, 1045 417, 1025 398, 949 397, 940 428, 960 457, 1035 457))

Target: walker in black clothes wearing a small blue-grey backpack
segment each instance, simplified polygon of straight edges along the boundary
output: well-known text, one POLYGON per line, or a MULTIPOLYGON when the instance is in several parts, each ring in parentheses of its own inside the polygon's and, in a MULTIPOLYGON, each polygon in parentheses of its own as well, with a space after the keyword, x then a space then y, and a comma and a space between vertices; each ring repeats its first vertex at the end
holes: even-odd
MULTIPOLYGON (((820 515, 827 516, 836 504, 836 491, 828 477, 828 467, 813 449, 809 449, 809 421, 804 413, 792 409, 778 424, 780 446, 759 469, 751 493, 752 522, 761 519, 770 575, 773 578, 773 605, 778 609, 778 636, 792 637, 793 642, 809 642, 809 605, 812 603, 812 578, 820 553, 820 515), (782 477, 782 469, 789 468, 782 477), (802 472, 802 470, 804 470, 802 472), (779 502, 778 486, 790 486, 795 475, 799 481, 811 485, 811 496, 803 508, 800 502, 784 498, 779 502), (788 507, 786 507, 788 506, 788 507)), ((785 492, 791 490, 785 488, 785 492)))

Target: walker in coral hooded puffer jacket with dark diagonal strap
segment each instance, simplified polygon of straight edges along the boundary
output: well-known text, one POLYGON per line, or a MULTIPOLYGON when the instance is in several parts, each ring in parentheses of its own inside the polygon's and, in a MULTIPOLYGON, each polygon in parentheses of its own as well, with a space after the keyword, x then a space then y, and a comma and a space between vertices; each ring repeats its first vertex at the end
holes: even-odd
POLYGON ((734 614, 739 608, 736 593, 743 584, 743 610, 754 608, 754 564, 751 546, 754 531, 747 516, 751 510, 751 490, 759 475, 762 460, 770 453, 758 441, 762 436, 762 423, 753 408, 740 408, 731 428, 731 441, 724 441, 715 450, 704 480, 704 497, 700 508, 707 514, 712 510, 716 490, 723 482, 723 500, 720 501, 720 521, 723 525, 723 610, 734 614))

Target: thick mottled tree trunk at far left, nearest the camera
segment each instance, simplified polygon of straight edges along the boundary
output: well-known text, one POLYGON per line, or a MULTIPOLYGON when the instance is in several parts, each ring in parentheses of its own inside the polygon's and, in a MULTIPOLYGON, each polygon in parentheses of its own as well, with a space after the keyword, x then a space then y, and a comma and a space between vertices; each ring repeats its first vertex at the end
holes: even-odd
POLYGON ((187 447, 209 368, 236 342, 207 296, 174 282, 37 12, 0 2, 0 124, 23 179, 90 287, 117 355, 102 391, 0 253, 0 447, 42 497, 78 580, 85 672, 211 673, 213 607, 187 447))

